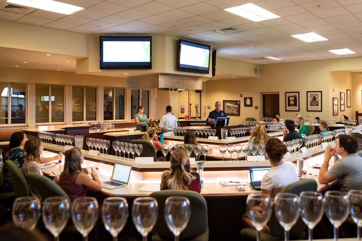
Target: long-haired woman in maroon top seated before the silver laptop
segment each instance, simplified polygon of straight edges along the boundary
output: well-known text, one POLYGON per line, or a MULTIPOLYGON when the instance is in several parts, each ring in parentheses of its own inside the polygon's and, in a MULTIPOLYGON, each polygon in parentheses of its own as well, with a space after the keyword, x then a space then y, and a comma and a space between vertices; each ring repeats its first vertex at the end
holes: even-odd
POLYGON ((82 150, 74 147, 67 150, 64 159, 64 170, 59 176, 59 186, 63 188, 73 202, 77 197, 85 197, 88 188, 100 192, 102 190, 101 181, 98 179, 98 170, 93 168, 90 178, 83 169, 81 164, 84 158, 82 150))

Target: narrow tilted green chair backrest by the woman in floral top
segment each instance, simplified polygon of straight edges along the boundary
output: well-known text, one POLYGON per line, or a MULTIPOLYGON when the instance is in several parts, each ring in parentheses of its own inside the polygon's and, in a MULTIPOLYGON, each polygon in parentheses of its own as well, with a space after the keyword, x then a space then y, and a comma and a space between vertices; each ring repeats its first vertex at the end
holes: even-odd
POLYGON ((11 160, 6 160, 5 165, 8 168, 10 178, 14 185, 15 198, 29 196, 30 191, 28 183, 19 168, 11 160))

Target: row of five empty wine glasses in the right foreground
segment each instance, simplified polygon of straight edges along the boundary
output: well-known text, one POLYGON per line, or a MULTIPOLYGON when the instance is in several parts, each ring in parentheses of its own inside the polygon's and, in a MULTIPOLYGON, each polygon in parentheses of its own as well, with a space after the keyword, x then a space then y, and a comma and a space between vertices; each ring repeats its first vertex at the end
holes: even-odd
MULTIPOLYGON (((299 197, 292 193, 278 193, 274 199, 274 213, 285 230, 286 241, 289 240, 289 231, 297 222, 299 215, 308 227, 308 239, 311 241, 313 228, 322 219, 323 211, 333 225, 335 241, 338 239, 338 228, 349 214, 357 224, 357 240, 359 240, 362 228, 361 198, 361 190, 350 190, 348 193, 327 191, 324 197, 320 192, 311 191, 301 192, 299 197)), ((257 241, 260 241, 260 231, 268 223, 271 212, 268 194, 248 195, 247 215, 257 230, 257 241)))

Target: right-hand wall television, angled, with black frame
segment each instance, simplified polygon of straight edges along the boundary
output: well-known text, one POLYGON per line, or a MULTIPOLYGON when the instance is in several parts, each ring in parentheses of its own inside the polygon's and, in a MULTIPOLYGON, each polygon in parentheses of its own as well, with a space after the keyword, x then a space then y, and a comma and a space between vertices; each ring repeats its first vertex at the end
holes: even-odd
POLYGON ((178 71, 209 74, 211 46, 188 40, 178 41, 178 71))

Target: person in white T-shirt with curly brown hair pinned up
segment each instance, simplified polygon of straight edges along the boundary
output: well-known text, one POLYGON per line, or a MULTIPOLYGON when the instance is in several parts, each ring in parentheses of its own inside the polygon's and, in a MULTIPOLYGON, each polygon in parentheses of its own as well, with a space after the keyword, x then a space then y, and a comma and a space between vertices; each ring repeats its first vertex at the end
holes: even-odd
MULTIPOLYGON (((286 146, 277 138, 270 138, 265 145, 265 152, 270 161, 271 168, 261 181, 261 193, 274 198, 287 185, 298 181, 295 165, 290 161, 283 161, 283 155, 287 153, 286 146)), ((254 228, 247 214, 243 215, 243 224, 248 228, 254 228)), ((261 232, 269 233, 268 225, 261 232)))

